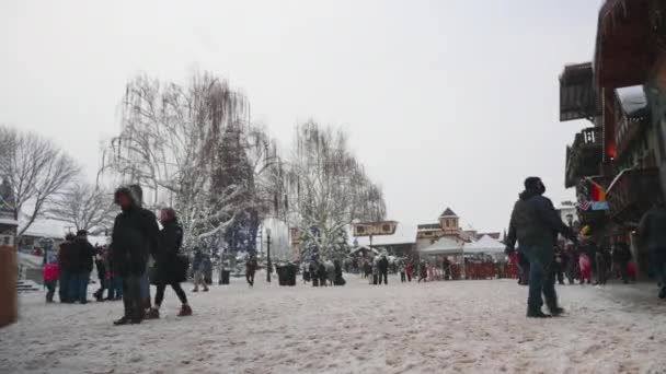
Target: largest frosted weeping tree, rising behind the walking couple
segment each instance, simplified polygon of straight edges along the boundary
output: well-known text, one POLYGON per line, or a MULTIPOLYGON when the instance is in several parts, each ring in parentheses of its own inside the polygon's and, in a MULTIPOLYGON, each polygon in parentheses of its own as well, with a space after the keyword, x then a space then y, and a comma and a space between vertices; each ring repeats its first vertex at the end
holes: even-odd
POLYGON ((271 200, 263 175, 274 147, 249 112, 243 95, 210 74, 195 73, 185 87, 139 77, 127 84, 103 171, 145 187, 149 206, 172 206, 186 246, 221 237, 238 214, 271 200), (246 177, 230 178, 239 167, 246 177))

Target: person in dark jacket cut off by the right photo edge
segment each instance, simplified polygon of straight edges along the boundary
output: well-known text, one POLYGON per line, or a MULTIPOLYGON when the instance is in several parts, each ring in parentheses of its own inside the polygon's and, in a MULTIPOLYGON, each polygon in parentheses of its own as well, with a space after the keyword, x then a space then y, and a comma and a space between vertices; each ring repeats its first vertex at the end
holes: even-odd
POLYGON ((666 299, 666 207, 663 200, 658 200, 643 215, 639 226, 639 237, 652 256, 657 279, 662 284, 659 299, 666 299))

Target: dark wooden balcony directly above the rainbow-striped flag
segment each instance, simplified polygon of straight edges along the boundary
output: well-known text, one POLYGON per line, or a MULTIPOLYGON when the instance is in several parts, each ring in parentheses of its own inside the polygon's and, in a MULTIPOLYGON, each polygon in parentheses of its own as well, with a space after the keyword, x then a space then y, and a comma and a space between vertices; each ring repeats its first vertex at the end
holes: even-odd
POLYGON ((574 187, 583 177, 599 174, 604 155, 601 133, 599 127, 587 128, 576 133, 573 144, 566 148, 566 188, 574 187))

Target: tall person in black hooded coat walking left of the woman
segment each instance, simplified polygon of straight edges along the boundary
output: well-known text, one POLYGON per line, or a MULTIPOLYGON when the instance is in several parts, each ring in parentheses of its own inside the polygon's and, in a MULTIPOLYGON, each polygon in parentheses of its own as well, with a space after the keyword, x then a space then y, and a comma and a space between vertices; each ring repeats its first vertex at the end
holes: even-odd
POLYGON ((141 208, 141 195, 139 186, 122 187, 115 194, 123 212, 114 222, 111 247, 114 271, 123 279, 125 307, 125 315, 115 325, 140 324, 145 315, 140 282, 148 256, 157 252, 160 229, 154 214, 141 208))

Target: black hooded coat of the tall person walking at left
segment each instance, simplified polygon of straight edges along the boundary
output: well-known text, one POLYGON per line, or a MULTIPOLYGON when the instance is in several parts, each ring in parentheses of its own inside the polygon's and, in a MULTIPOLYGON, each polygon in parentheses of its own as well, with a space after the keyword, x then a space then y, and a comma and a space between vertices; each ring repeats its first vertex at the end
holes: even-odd
POLYGON ((141 208, 140 199, 128 188, 116 191, 127 194, 131 204, 116 217, 113 225, 112 259, 114 271, 122 276, 142 276, 146 273, 148 257, 158 250, 160 229, 151 211, 141 208))

